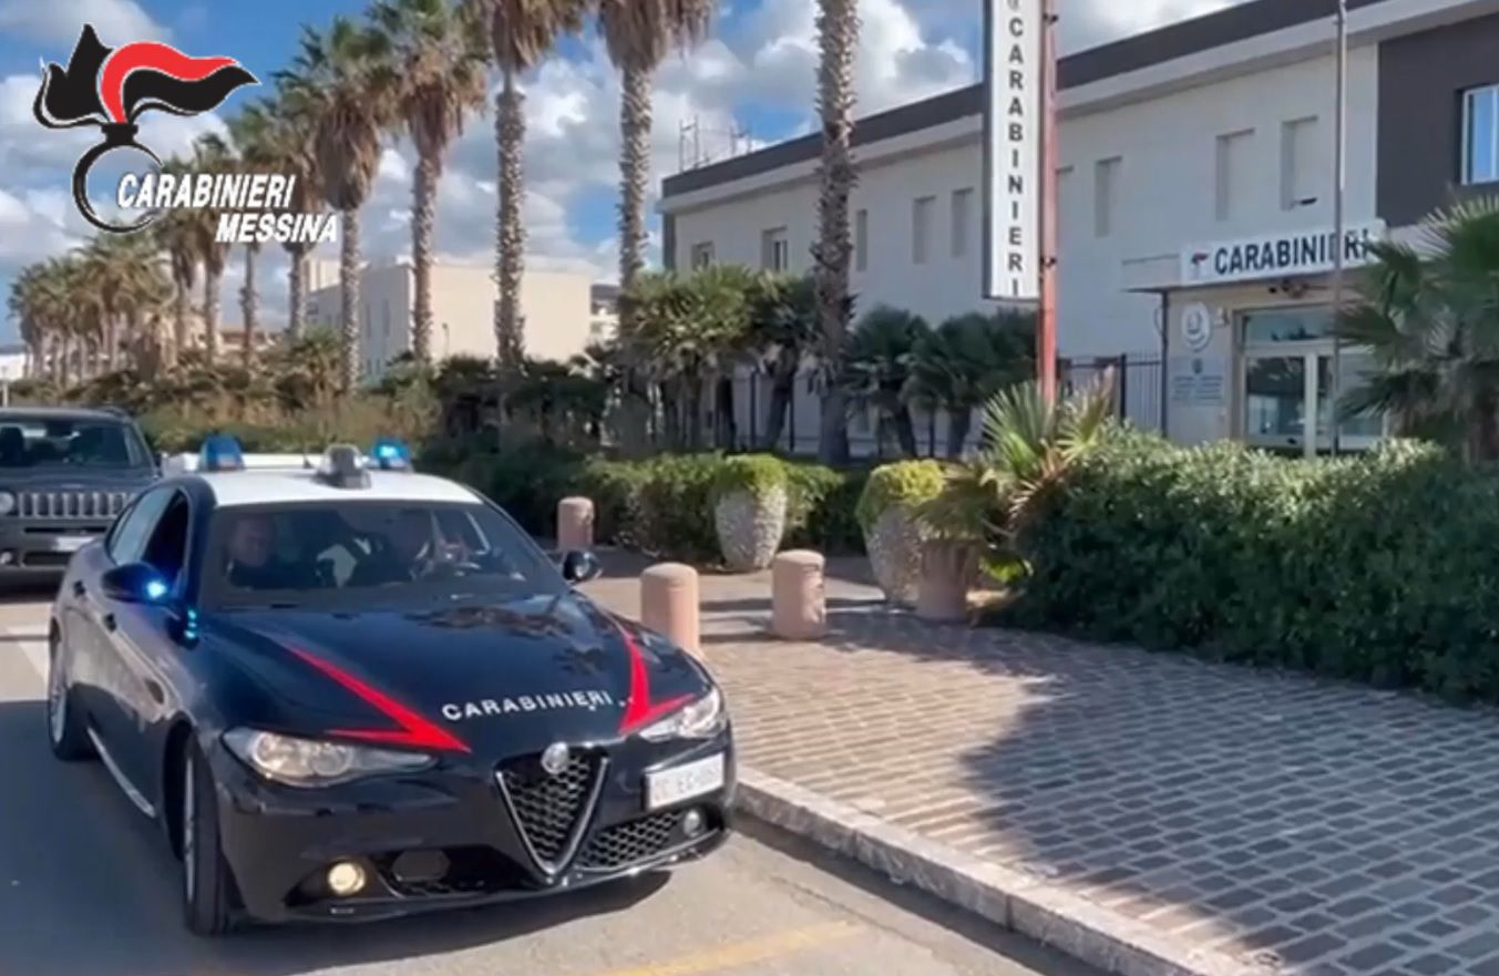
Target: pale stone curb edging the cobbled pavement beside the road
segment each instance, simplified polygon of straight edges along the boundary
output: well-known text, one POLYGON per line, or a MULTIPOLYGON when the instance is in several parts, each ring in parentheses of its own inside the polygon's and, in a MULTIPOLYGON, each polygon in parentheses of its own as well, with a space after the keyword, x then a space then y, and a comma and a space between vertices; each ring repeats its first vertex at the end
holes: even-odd
POLYGON ((989 922, 1118 976, 1265 976, 1226 954, 1187 951, 1159 931, 1057 885, 1001 868, 830 801, 739 768, 742 813, 913 885, 989 922))

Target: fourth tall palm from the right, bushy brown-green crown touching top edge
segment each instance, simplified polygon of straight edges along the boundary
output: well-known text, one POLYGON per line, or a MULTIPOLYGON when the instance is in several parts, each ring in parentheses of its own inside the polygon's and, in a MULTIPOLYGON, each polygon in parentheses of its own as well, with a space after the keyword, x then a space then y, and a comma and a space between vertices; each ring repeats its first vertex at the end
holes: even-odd
POLYGON ((396 64, 397 111, 417 147, 412 181, 411 264, 415 279, 411 346, 432 361, 432 250, 442 156, 463 133, 463 118, 484 106, 487 40, 472 7, 448 0, 381 0, 370 18, 396 64))

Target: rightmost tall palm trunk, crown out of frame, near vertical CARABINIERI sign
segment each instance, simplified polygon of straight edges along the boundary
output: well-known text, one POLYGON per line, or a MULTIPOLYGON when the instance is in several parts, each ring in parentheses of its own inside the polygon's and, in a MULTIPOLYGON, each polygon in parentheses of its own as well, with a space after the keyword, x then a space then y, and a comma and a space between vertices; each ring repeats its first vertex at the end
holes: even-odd
MULTIPOLYGON (((859 1, 818 0, 818 46, 821 61, 817 69, 817 111, 823 123, 823 163, 818 169, 817 244, 817 306, 823 324, 824 369, 842 354, 848 319, 848 264, 853 244, 848 240, 848 193, 854 184, 853 168, 853 105, 854 52, 859 46, 859 1)), ((848 420, 842 387, 826 378, 823 382, 821 438, 817 450, 824 465, 848 462, 848 420)))

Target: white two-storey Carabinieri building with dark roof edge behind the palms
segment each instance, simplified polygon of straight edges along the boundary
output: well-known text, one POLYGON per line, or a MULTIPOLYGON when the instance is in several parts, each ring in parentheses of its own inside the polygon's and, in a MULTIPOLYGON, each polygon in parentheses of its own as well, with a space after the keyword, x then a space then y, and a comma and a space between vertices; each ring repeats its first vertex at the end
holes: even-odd
MULTIPOLYGON (((1357 264, 1357 241, 1499 189, 1499 0, 1349 6, 1357 264)), ((1129 415, 1159 427, 1165 414, 1175 439, 1331 442, 1331 10, 1252 0, 1060 64, 1060 354, 1127 355, 1129 415)), ((860 310, 892 303, 935 325, 992 307, 982 103, 982 87, 962 88, 856 126, 860 310)), ((811 270, 818 153, 812 135, 667 178, 667 264, 811 270)), ((1345 357, 1345 382, 1360 361, 1345 357)), ((799 436, 815 436, 815 400, 799 397, 797 412, 799 436)), ((1352 421, 1343 442, 1379 432, 1376 418, 1352 421)))

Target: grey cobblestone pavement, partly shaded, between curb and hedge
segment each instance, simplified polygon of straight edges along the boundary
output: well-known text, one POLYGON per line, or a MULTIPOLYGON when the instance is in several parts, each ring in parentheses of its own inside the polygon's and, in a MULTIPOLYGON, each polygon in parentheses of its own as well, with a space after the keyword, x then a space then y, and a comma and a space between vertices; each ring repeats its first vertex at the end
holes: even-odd
POLYGON ((860 562, 821 643, 764 633, 767 574, 703 576, 747 765, 1265 972, 1499 976, 1499 715, 931 625, 860 562))

